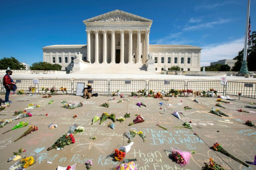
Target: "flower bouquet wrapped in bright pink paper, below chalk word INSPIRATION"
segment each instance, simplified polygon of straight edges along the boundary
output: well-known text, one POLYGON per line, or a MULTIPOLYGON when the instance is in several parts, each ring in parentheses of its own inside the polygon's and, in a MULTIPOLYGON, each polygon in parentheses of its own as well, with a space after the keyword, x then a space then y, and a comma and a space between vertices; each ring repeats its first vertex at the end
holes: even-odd
POLYGON ((194 154, 195 151, 192 152, 185 152, 179 150, 173 150, 172 156, 174 157, 175 161, 179 163, 181 166, 189 163, 189 159, 191 154, 194 154))

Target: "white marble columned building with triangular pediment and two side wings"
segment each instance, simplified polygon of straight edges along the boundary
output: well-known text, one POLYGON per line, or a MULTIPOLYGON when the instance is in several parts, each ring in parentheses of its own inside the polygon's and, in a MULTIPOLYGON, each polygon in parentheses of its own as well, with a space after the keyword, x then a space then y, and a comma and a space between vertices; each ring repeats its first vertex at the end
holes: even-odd
POLYGON ((151 56, 155 72, 161 72, 164 67, 168 70, 171 66, 179 66, 183 71, 200 71, 199 46, 149 44, 152 22, 121 10, 86 19, 83 23, 87 45, 44 46, 43 61, 70 70, 80 52, 82 62, 89 65, 126 64, 129 68, 130 64, 146 64, 151 56))

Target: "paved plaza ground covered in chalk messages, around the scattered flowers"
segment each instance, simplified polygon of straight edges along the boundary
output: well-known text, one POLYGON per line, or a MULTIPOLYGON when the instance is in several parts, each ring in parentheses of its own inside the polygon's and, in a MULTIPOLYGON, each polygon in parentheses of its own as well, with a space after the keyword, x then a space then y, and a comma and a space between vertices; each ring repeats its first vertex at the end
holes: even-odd
MULTIPOLYGON (((34 96, 10 95, 12 103, 10 107, 0 112, 1 119, 14 118, 15 111, 24 110, 30 103, 39 104, 39 108, 29 109, 32 117, 19 119, 0 128, 1 133, 1 169, 8 169, 15 161, 7 162, 17 152, 23 148, 26 152, 21 156, 36 156, 37 162, 27 169, 48 170, 57 169, 58 166, 67 167, 76 164, 76 169, 86 169, 85 162, 88 159, 93 161, 92 169, 112 169, 120 162, 113 161, 110 156, 115 148, 128 145, 128 138, 123 136, 129 130, 142 131, 146 136, 143 143, 141 137, 136 135, 132 142, 131 150, 126 154, 125 159, 137 159, 136 166, 139 170, 165 170, 182 169, 182 166, 175 163, 170 156, 172 149, 181 151, 195 151, 190 158, 189 164, 183 169, 201 169, 203 162, 208 162, 209 157, 213 158, 217 164, 221 164, 225 169, 256 169, 254 156, 256 155, 256 128, 245 125, 246 120, 256 123, 256 105, 250 105, 249 102, 256 103, 255 99, 237 96, 230 96, 234 101, 230 104, 221 103, 224 108, 215 106, 216 97, 164 97, 163 99, 154 99, 152 97, 131 97, 127 96, 118 103, 120 97, 115 96, 115 100, 108 101, 112 96, 99 95, 91 99, 83 99, 75 95, 53 95, 51 98, 42 98, 42 95, 34 96), (197 99, 199 103, 193 100, 197 99), (50 100, 53 103, 48 104, 50 100), (75 109, 62 108, 61 101, 82 102, 83 106, 75 109), (109 108, 100 107, 101 103, 109 103, 109 108), (144 102, 147 107, 136 105, 137 102, 144 102), (162 102, 163 105, 159 105, 162 102), (168 105, 167 105, 168 104, 168 105), (184 106, 190 106, 192 109, 184 110, 184 106), (210 109, 215 107, 229 115, 229 117, 219 117, 209 113, 210 109), (162 108, 162 109, 161 109, 162 108), (238 112, 243 109, 246 112, 238 112), (182 111, 181 120, 175 117, 174 111, 182 111), (131 117, 122 123, 116 121, 115 129, 107 127, 111 119, 107 119, 99 125, 99 121, 91 125, 95 115, 101 117, 103 112, 115 113, 116 117, 124 117, 125 113, 130 112, 131 117), (48 114, 48 116, 45 116, 48 114), (76 118, 72 118, 74 114, 76 118), (141 114, 145 121, 142 123, 128 126, 136 118, 135 114, 141 114), (42 116, 39 116, 42 115, 42 116), (13 128, 20 120, 29 121, 29 125, 38 126, 37 131, 29 134, 17 142, 14 142, 28 128, 23 127, 3 132, 13 128), (185 121, 192 121, 192 129, 177 129, 174 126, 181 126, 185 121), (51 123, 58 125, 57 128, 48 129, 51 123), (67 130, 73 124, 79 124, 85 128, 83 133, 75 135, 75 143, 65 146, 62 150, 50 150, 50 147, 59 137, 67 133, 67 130), (157 124, 166 127, 168 130, 156 126, 157 124), (198 136, 194 135, 197 132, 198 136), (92 137, 97 139, 93 141, 92 137), (247 168, 241 163, 227 157, 226 155, 213 151, 214 143, 220 143, 225 150, 246 162, 250 167, 247 168), (51 164, 47 162, 52 162, 51 164)), ((4 99, 4 95, 1 96, 4 99)), ((227 101, 222 99, 223 101, 227 101)))

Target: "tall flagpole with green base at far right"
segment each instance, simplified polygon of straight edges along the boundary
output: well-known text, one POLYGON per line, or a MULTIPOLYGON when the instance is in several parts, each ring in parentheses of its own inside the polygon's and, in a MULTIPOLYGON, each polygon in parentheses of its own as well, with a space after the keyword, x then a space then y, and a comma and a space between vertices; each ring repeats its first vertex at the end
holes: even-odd
POLYGON ((240 68, 239 74, 242 74, 240 76, 244 76, 245 74, 249 74, 250 72, 248 71, 247 67, 247 43, 248 43, 248 26, 249 26, 249 16, 250 16, 250 0, 248 0, 248 5, 247 5, 247 16, 246 16, 246 26, 245 26, 245 46, 243 48, 243 61, 242 61, 242 66, 240 68))

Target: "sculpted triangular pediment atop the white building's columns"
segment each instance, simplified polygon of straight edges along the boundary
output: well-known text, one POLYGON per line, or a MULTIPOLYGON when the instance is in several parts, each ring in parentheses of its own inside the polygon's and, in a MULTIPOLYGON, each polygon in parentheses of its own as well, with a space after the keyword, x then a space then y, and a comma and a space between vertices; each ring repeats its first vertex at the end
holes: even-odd
POLYGON ((86 19, 83 23, 88 22, 153 22, 150 19, 143 18, 134 14, 130 14, 121 10, 114 10, 105 14, 86 19))

